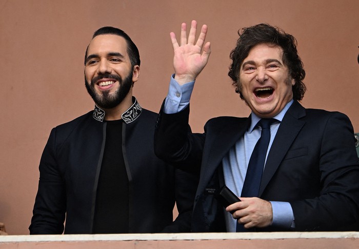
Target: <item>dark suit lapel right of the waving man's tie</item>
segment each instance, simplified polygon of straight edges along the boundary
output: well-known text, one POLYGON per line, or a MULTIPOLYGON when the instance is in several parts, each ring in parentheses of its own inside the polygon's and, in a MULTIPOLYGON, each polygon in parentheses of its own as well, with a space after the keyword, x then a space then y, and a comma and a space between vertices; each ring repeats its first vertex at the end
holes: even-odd
POLYGON ((300 120, 300 118, 304 116, 305 108, 297 101, 294 101, 285 114, 270 148, 262 176, 259 196, 263 194, 264 189, 272 179, 278 166, 283 161, 283 158, 287 154, 294 139, 304 126, 305 121, 300 120))

